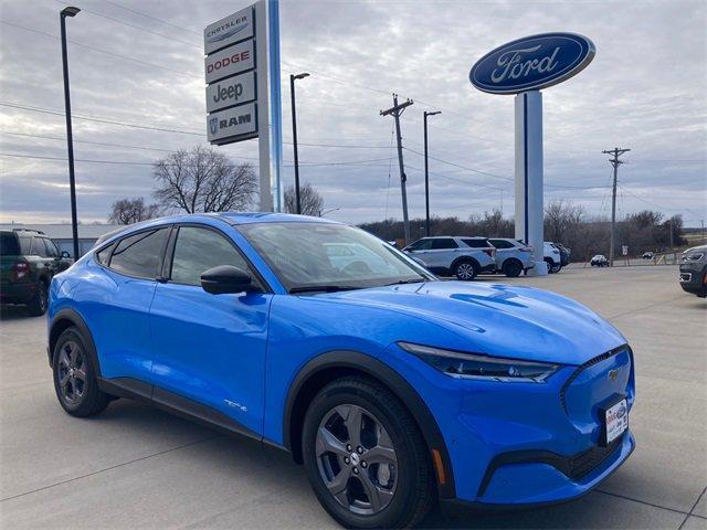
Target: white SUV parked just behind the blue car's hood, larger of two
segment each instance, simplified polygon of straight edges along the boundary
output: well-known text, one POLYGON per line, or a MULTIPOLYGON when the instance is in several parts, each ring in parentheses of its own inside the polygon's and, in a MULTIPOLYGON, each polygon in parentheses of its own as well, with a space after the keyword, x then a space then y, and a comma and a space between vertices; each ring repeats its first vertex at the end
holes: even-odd
POLYGON ((479 273, 496 271, 496 248, 486 237, 422 237, 403 252, 433 273, 457 279, 474 279, 479 273))

